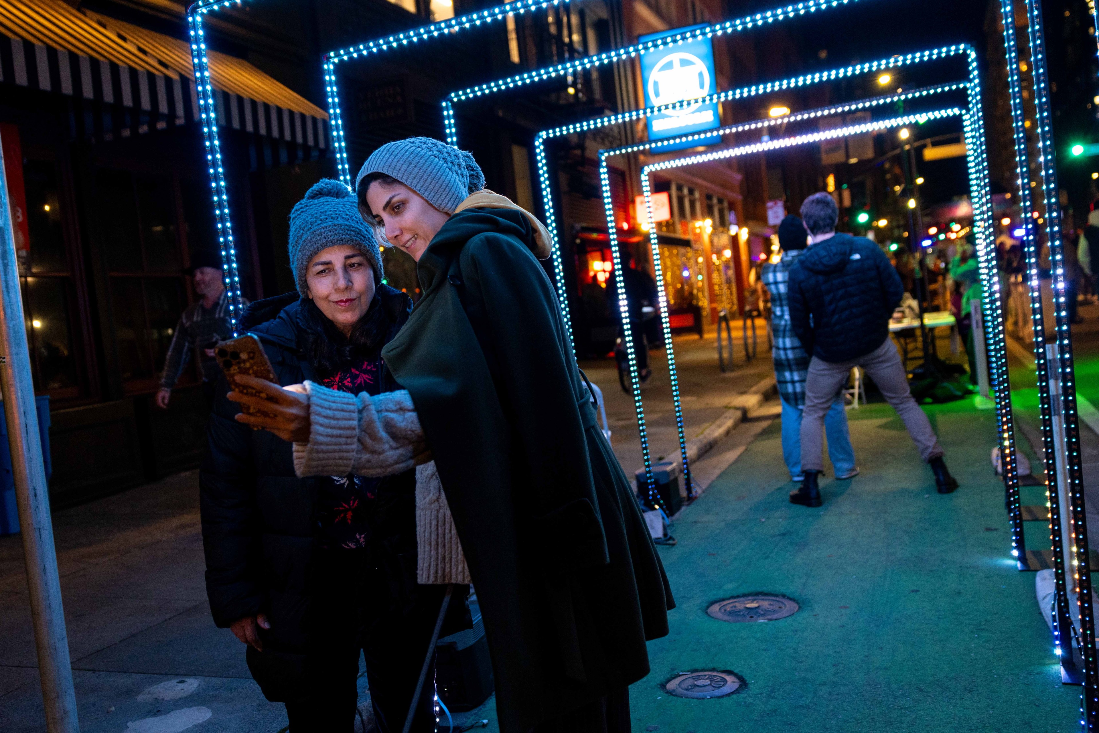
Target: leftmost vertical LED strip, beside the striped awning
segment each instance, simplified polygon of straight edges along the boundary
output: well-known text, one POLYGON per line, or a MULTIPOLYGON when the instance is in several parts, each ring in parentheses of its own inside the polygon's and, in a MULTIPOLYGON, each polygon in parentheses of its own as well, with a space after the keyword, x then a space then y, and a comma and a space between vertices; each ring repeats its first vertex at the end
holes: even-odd
POLYGON ((225 187, 221 141, 218 140, 218 112, 213 101, 213 84, 210 80, 210 59, 207 58, 206 34, 202 30, 203 12, 191 8, 191 14, 188 14, 187 21, 191 34, 195 87, 199 98, 199 122, 202 125, 202 138, 206 142, 213 213, 218 223, 218 245, 221 248, 225 289, 229 291, 229 324, 233 336, 236 336, 237 321, 242 310, 241 276, 236 268, 236 244, 233 242, 233 223, 229 213, 229 190, 225 187))

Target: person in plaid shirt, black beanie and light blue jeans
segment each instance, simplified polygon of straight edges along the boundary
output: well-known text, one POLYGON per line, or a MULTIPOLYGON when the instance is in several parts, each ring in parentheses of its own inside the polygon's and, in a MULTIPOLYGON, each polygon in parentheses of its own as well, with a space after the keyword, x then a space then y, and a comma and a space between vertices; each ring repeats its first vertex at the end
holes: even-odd
MULTIPOLYGON (((775 381, 778 399, 782 404, 782 458, 790 471, 791 481, 803 481, 801 473, 801 410, 806 403, 806 373, 809 354, 790 325, 789 271, 808 244, 809 237, 801 220, 792 214, 778 225, 778 244, 782 258, 763 266, 762 281, 770 293, 770 331, 774 335, 771 356, 775 362, 775 381)), ((832 468, 840 480, 858 475, 855 451, 851 447, 847 411, 839 391, 832 407, 824 415, 828 452, 832 468)))

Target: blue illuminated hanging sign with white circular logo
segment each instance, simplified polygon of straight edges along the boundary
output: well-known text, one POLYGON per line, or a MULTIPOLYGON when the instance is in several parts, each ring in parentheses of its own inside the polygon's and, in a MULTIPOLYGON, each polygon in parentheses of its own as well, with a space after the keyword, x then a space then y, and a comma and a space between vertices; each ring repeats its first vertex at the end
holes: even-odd
MULTIPOLYGON (((676 29, 652 33, 637 38, 639 43, 657 41, 696 27, 676 29)), ((645 107, 673 104, 689 99, 701 99, 717 91, 718 78, 713 73, 713 42, 701 37, 678 45, 646 51, 641 54, 641 78, 645 86, 645 107)), ((699 102, 681 109, 652 114, 647 119, 648 138, 679 137, 721 125, 718 102, 699 102)), ((713 145, 721 135, 708 135, 665 149, 713 145)))

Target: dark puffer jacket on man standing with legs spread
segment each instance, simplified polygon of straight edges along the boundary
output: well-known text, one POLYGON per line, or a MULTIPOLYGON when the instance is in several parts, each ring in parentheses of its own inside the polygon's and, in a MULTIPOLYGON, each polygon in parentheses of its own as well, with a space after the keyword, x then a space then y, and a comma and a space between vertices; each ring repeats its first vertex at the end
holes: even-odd
POLYGON ((790 268, 790 322, 807 353, 846 362, 889 337, 889 316, 903 295, 878 245, 836 234, 811 245, 790 268))

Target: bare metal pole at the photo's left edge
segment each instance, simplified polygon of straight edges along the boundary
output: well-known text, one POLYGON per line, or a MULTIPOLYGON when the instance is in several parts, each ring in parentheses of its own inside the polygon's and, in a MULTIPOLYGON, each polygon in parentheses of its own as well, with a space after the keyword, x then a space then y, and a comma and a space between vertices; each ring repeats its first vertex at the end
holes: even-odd
POLYGON ((15 478, 26 585, 31 591, 46 730, 49 733, 79 733, 7 180, 0 148, 0 388, 3 390, 3 413, 15 478))

